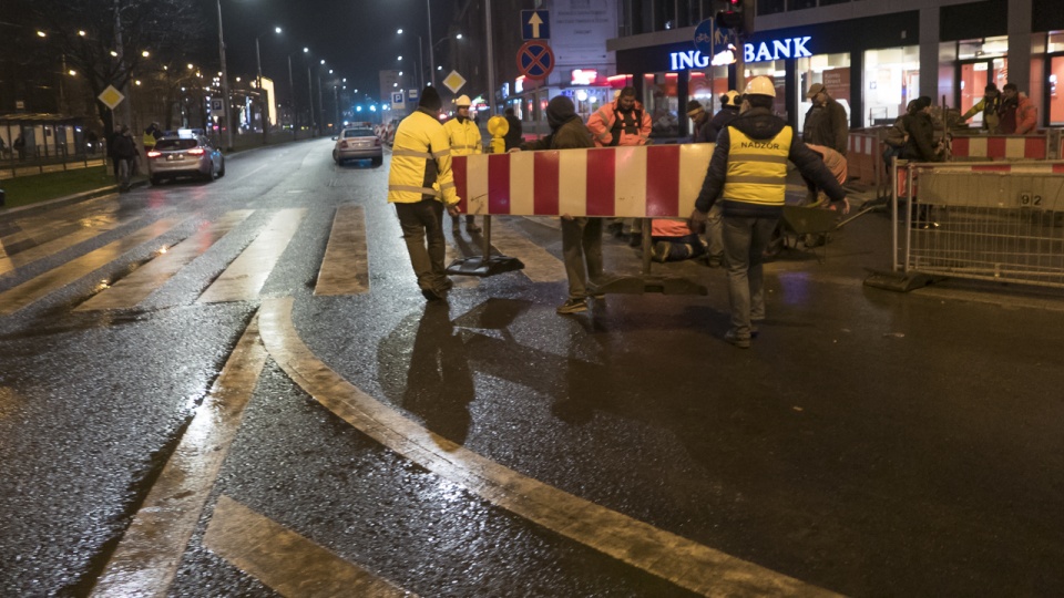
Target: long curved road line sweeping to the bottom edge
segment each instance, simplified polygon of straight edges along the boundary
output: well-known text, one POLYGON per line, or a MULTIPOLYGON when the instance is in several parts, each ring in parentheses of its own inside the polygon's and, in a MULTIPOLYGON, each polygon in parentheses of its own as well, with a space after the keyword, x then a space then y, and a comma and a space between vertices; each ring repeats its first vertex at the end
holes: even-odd
POLYGON ((291 321, 294 299, 259 312, 270 357, 329 411, 422 467, 492 504, 652 575, 707 596, 835 596, 596 505, 456 444, 369 396, 323 363, 291 321))

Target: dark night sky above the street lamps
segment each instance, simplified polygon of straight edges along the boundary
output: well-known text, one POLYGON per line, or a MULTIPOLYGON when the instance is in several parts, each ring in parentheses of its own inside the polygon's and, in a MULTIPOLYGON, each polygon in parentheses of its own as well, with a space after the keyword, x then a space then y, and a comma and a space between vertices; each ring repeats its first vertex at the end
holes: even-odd
MULTIPOLYGON (((209 30, 216 35, 216 0, 201 1, 214 17, 209 30)), ((358 89, 359 95, 368 92, 374 97, 378 97, 380 91, 378 72, 399 69, 396 60, 399 54, 403 56, 402 69, 412 69, 410 61, 418 54, 419 34, 428 61, 427 0, 221 1, 229 76, 254 76, 255 37, 268 32, 259 38, 263 76, 274 80, 282 101, 289 96, 289 53, 296 52, 291 58, 296 93, 306 85, 304 47, 310 49, 315 62, 324 58, 326 69, 346 76, 348 89, 358 89), (274 33, 274 27, 280 27, 284 32, 274 33), (403 29, 403 35, 396 34, 399 28, 403 29)), ((447 35, 458 0, 428 1, 432 11, 432 39, 439 40, 447 35)))

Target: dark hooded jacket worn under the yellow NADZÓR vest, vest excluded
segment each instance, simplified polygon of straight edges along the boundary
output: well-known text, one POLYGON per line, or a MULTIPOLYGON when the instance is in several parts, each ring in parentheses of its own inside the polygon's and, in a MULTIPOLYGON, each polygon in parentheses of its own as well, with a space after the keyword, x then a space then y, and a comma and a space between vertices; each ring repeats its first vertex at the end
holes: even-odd
MULTIPOLYGON (((707 213, 709 208, 720 199, 724 190, 724 182, 728 172, 728 152, 732 147, 730 127, 735 127, 751 140, 771 140, 787 126, 779 116, 774 115, 768 109, 750 109, 746 113, 736 116, 728 125, 720 131, 717 136, 717 146, 713 151, 713 157, 709 158, 709 168, 706 171, 705 182, 702 184, 702 193, 695 200, 695 208, 698 212, 707 213)), ((795 163, 798 169, 806 178, 812 181, 818 187, 831 198, 832 202, 841 202, 846 198, 846 192, 830 171, 823 165, 820 156, 806 146, 801 140, 795 135, 790 142, 790 153, 787 159, 795 163)), ((723 197, 724 215, 739 218, 779 218, 782 215, 781 206, 755 205, 744 202, 736 202, 723 197)))

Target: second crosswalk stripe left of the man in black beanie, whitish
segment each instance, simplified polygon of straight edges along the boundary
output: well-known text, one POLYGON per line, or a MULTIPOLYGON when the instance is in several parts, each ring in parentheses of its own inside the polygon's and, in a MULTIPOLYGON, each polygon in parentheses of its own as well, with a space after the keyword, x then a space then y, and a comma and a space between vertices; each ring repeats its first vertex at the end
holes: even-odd
POLYGON ((203 291, 196 302, 222 303, 257 299, 258 291, 266 283, 280 255, 288 248, 306 212, 305 208, 297 208, 282 209, 275 214, 266 229, 203 291))

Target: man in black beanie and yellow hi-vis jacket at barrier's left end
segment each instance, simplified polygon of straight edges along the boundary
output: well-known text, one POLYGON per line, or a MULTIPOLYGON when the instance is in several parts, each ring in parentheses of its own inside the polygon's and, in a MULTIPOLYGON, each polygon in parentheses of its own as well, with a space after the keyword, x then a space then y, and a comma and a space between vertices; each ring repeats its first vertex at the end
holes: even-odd
POLYGON ((442 105, 436 87, 421 90, 418 110, 396 128, 388 172, 388 203, 396 205, 418 287, 429 300, 446 299, 452 286, 443 267, 443 209, 458 216, 460 200, 451 144, 438 117, 442 105))

